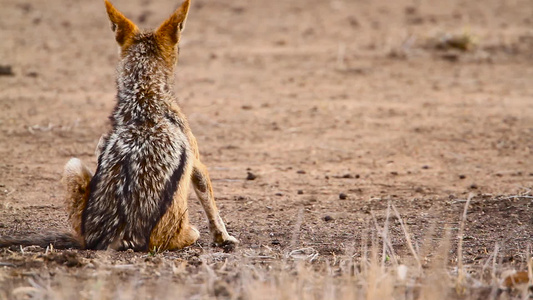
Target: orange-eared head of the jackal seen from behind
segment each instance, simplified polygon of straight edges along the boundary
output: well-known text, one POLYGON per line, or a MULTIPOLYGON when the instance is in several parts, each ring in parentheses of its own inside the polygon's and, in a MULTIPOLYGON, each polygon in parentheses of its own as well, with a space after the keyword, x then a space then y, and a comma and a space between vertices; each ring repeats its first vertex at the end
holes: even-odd
POLYGON ((178 43, 185 27, 190 0, 185 0, 167 20, 153 31, 139 30, 137 25, 126 18, 109 1, 104 1, 111 21, 111 30, 115 32, 120 56, 123 59, 133 52, 157 56, 169 67, 174 66, 177 62, 178 43))

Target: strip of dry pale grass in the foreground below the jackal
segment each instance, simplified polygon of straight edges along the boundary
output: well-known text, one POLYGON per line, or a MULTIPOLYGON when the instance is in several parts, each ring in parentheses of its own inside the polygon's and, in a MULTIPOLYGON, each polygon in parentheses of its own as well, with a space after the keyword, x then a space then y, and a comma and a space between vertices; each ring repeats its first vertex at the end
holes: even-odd
MULTIPOLYGON (((158 254, 43 254, 42 249, 28 248, 12 252, 10 258, 15 264, 27 263, 24 270, 5 264, 0 271, 0 299, 528 299, 533 278, 529 256, 519 273, 498 262, 498 245, 481 266, 463 264, 462 234, 470 199, 456 261, 450 257, 456 241, 450 228, 437 237, 432 226, 418 248, 389 204, 384 223, 374 217, 360 245, 346 249, 343 256, 320 255, 313 248, 279 252, 265 246, 234 253, 191 248, 158 254), (389 226, 394 217, 407 243, 405 255, 392 247, 389 226), (32 268, 31 262, 43 264, 32 268)), ((301 222, 296 223, 295 240, 301 222)))

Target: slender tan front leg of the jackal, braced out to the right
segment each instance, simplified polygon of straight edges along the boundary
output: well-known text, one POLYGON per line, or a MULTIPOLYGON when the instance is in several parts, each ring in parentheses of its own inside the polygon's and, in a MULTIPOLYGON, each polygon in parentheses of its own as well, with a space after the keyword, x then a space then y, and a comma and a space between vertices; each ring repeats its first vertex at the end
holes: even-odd
POLYGON ((209 173, 199 159, 195 159, 194 168, 192 171, 192 183, 194 191, 200 199, 202 206, 209 220, 209 229, 213 235, 213 240, 216 244, 227 245, 237 244, 239 241, 233 236, 229 235, 224 225, 224 221, 218 213, 217 205, 215 203, 215 197, 213 196, 213 188, 211 186, 211 180, 209 179, 209 173))

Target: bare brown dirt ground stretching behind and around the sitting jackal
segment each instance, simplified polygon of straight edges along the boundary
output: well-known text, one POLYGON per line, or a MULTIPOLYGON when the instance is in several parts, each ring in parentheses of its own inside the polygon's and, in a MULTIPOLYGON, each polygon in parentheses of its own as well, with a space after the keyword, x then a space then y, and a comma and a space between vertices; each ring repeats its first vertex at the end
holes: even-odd
MULTIPOLYGON (((178 2, 113 1, 146 28, 178 2)), ((95 168, 117 46, 99 1, 0 4, 0 65, 12 68, 0 75, 0 235, 68 230, 62 168, 71 157, 95 168)), ((498 243, 500 261, 523 265, 533 236, 532 16, 530 0, 194 0, 175 90, 238 251, 347 255, 374 219, 383 224, 388 203, 415 244, 450 228, 456 245, 472 193, 465 263, 485 263, 498 243)), ((200 241, 167 255, 222 252, 190 202, 200 241)), ((0 253, 5 272, 32 268, 12 255, 0 253)))

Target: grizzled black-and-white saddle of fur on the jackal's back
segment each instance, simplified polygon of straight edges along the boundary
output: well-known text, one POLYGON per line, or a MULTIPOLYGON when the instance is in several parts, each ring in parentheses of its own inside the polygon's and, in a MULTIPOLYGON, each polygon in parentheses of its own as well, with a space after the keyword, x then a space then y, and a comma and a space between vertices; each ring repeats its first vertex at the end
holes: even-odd
POLYGON ((189 144, 169 121, 119 126, 90 183, 82 231, 89 249, 147 250, 150 233, 188 171, 189 144))

